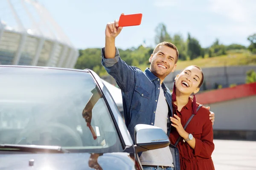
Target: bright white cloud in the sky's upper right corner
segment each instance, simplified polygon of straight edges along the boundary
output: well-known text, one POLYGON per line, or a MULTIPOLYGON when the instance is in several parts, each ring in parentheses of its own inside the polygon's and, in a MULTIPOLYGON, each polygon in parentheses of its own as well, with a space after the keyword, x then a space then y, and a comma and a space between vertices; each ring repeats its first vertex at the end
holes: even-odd
POLYGON ((207 24, 218 36, 247 37, 255 32, 254 0, 210 0, 209 10, 227 19, 227 23, 207 24))

